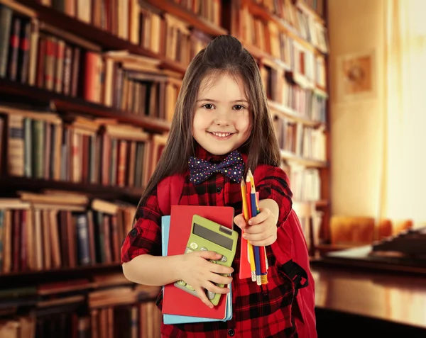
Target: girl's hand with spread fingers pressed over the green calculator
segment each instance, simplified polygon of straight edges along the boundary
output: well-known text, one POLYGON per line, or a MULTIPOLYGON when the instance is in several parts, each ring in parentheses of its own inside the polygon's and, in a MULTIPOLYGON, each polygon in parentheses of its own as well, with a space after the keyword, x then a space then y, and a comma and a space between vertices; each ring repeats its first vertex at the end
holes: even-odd
POLYGON ((221 288, 214 283, 226 285, 232 281, 232 277, 225 277, 220 274, 231 274, 234 269, 209 261, 209 259, 216 261, 221 258, 221 254, 212 251, 195 251, 182 254, 180 269, 182 278, 180 279, 192 286, 202 302, 209 308, 213 308, 213 304, 207 298, 204 289, 214 293, 229 293, 229 288, 221 288))

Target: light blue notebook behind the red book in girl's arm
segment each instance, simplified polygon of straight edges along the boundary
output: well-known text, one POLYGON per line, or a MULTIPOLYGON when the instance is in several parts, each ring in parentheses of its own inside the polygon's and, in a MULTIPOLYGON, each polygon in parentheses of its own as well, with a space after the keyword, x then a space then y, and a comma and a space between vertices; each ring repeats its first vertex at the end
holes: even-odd
MULTIPOLYGON (((168 249, 168 237, 170 232, 170 216, 163 216, 161 218, 161 251, 163 256, 167 256, 168 249)), ((231 289, 231 284, 229 284, 231 289)), ((164 296, 164 287, 163 287, 163 296, 164 296)), ((205 305, 204 305, 205 306, 205 305)), ((224 319, 217 320, 212 318, 202 318, 202 317, 190 317, 183 315, 168 315, 163 314, 164 324, 187 324, 193 322, 226 322, 232 318, 232 289, 231 292, 226 295, 226 313, 224 319)))

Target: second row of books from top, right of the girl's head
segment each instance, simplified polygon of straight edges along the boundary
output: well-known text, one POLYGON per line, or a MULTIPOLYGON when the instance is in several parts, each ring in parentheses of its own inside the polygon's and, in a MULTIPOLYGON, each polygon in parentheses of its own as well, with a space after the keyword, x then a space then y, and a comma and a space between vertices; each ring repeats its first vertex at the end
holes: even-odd
POLYGON ((283 62, 298 81, 325 89, 324 55, 300 43, 293 35, 280 29, 277 23, 254 17, 248 8, 242 14, 245 20, 241 32, 246 43, 283 62))

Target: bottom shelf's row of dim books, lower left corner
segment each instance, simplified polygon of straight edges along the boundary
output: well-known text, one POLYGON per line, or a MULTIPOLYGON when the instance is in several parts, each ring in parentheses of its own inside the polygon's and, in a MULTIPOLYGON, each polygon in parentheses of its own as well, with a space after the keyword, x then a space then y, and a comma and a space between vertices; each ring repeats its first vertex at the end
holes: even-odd
POLYGON ((159 338, 156 295, 121 273, 2 288, 0 337, 159 338))

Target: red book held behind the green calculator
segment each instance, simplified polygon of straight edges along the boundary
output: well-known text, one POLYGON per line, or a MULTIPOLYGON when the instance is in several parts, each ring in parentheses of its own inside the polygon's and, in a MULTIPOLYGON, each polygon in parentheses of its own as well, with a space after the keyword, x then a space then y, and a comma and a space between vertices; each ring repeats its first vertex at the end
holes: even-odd
MULTIPOLYGON (((200 215, 220 225, 229 227, 229 229, 234 228, 234 208, 226 206, 172 205, 168 256, 184 254, 191 234, 193 215, 200 215)), ((163 313, 221 320, 226 315, 226 294, 223 294, 218 305, 211 309, 202 303, 200 298, 180 290, 173 283, 170 283, 164 287, 163 313)))

